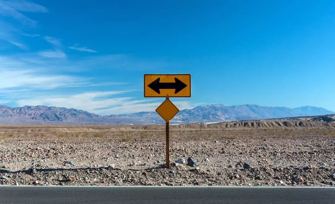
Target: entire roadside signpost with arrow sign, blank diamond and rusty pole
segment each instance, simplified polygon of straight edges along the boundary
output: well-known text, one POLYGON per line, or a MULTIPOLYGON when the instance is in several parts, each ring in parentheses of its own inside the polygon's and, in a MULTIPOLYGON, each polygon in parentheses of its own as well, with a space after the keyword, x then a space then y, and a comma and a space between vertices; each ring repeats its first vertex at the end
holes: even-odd
POLYGON ((166 135, 166 168, 170 169, 170 120, 179 112, 169 97, 191 97, 190 74, 145 74, 144 97, 165 97, 156 112, 165 121, 166 135))

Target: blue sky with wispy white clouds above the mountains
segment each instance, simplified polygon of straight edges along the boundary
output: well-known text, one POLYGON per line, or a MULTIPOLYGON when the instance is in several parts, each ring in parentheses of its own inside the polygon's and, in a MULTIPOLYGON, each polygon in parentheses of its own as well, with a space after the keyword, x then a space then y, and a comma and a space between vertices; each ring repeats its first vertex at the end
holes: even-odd
POLYGON ((154 111, 144 74, 204 104, 335 111, 335 1, 0 0, 0 104, 154 111))

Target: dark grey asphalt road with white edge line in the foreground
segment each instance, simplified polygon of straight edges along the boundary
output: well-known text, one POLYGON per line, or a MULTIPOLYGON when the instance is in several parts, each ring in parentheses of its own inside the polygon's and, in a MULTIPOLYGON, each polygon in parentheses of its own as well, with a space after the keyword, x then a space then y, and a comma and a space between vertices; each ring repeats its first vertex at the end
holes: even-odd
POLYGON ((331 187, 0 186, 0 203, 335 203, 331 187))

